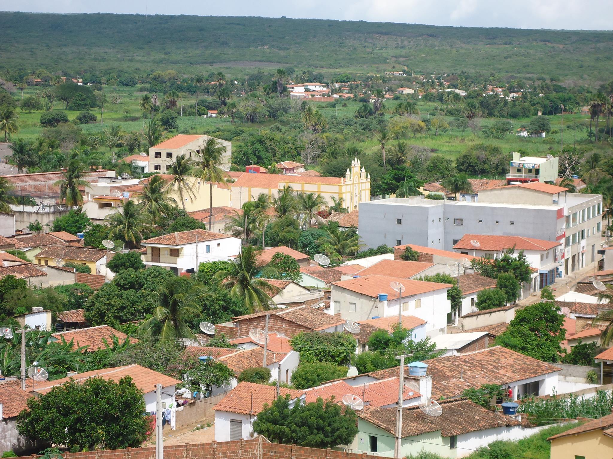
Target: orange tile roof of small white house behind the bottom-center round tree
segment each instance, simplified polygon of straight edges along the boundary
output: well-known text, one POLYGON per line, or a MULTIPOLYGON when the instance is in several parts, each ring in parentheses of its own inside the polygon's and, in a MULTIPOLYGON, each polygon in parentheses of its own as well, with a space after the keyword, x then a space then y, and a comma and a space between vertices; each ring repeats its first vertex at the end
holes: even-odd
MULTIPOLYGON (((302 395, 300 390, 280 388, 281 397, 289 394, 291 398, 302 395)), ((276 399, 276 387, 265 384, 238 383, 228 392, 226 397, 213 408, 215 411, 235 412, 239 414, 256 415, 264 409, 264 405, 272 405, 276 399)))

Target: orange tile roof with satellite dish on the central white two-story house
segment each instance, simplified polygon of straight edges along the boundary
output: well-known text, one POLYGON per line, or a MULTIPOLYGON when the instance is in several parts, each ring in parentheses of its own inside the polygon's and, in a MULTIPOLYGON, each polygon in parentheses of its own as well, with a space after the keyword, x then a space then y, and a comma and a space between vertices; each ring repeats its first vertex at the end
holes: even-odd
POLYGON ((451 288, 451 284, 443 284, 438 282, 422 282, 420 280, 405 279, 402 277, 391 277, 383 275, 366 275, 348 280, 334 282, 333 285, 345 288, 357 293, 361 293, 370 297, 377 297, 379 293, 387 293, 388 299, 398 298, 398 292, 392 290, 390 282, 400 282, 405 286, 403 297, 418 295, 421 293, 432 292, 440 289, 451 288))

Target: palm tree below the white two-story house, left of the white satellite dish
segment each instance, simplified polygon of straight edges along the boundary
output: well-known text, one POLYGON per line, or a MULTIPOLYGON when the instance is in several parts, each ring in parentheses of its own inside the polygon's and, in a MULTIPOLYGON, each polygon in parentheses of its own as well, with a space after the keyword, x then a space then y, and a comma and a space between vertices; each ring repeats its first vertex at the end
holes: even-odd
POLYGON ((202 315, 197 299, 203 294, 202 286, 188 277, 168 278, 158 288, 158 306, 153 317, 143 322, 139 331, 156 335, 162 341, 194 338, 188 321, 202 315))

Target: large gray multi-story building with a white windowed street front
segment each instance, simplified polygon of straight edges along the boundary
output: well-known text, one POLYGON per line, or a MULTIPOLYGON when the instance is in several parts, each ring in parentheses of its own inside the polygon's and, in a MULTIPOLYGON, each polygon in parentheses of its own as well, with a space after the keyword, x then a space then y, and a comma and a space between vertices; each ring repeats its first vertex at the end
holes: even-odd
POLYGON ((417 244, 451 251, 464 234, 560 241, 555 261, 563 277, 596 261, 602 213, 602 195, 533 182, 482 190, 474 203, 422 196, 360 203, 358 226, 368 248, 417 244))

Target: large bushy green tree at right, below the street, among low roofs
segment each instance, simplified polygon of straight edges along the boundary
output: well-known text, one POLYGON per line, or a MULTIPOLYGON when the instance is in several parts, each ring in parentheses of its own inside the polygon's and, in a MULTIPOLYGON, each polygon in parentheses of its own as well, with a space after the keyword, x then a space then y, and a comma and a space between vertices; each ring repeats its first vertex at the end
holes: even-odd
POLYGON ((517 310, 515 318, 496 342, 544 362, 559 362, 560 343, 566 339, 564 316, 551 302, 531 304, 517 310))

